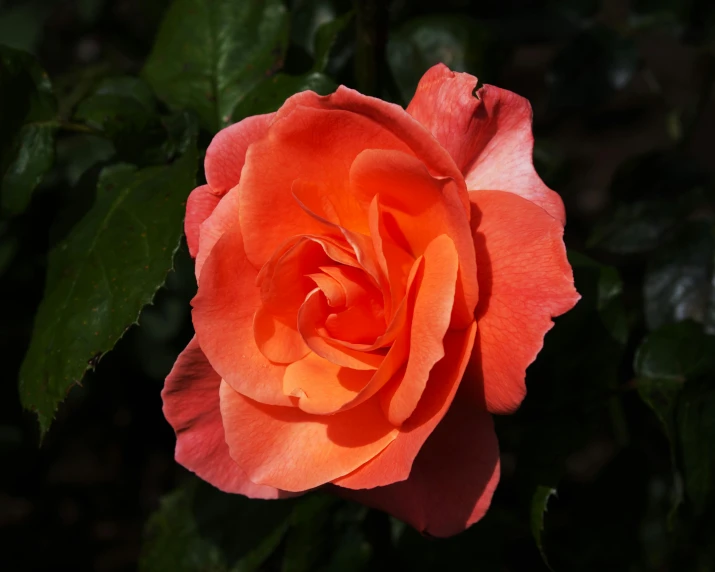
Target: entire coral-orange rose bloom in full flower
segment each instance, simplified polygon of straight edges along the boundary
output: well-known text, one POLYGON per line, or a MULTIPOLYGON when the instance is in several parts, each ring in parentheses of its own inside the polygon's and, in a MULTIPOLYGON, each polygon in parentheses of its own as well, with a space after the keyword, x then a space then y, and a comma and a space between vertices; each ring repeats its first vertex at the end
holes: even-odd
POLYGON ((186 208, 196 336, 162 393, 179 463, 433 536, 484 515, 491 414, 579 296, 531 107, 476 85, 437 65, 406 110, 305 91, 216 135, 186 208))

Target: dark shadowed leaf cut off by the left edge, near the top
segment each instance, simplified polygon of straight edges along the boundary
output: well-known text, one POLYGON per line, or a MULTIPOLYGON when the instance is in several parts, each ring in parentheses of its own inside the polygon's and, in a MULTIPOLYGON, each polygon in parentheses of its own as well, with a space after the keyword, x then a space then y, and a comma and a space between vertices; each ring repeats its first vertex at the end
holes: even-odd
POLYGON ((0 46, 0 110, 0 210, 17 215, 54 162, 56 102, 35 59, 5 46, 0 46))

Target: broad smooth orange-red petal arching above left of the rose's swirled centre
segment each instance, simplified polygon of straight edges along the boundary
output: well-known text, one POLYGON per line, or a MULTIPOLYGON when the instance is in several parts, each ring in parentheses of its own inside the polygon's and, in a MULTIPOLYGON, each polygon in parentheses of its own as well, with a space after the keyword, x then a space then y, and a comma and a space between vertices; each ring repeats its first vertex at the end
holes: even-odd
POLYGON ((365 117, 306 107, 295 108, 289 119, 276 119, 268 135, 251 145, 241 174, 240 217, 246 253, 256 268, 288 236, 325 234, 324 224, 294 199, 294 181, 320 181, 341 193, 350 163, 372 145, 405 149, 365 117))

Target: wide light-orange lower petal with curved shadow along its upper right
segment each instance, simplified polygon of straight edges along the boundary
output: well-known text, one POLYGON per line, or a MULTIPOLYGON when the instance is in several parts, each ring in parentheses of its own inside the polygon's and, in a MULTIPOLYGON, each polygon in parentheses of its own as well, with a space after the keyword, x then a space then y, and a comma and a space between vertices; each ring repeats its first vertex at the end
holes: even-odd
POLYGON ((231 457, 253 482, 305 491, 356 469, 395 439, 375 400, 335 415, 252 401, 221 383, 231 457))

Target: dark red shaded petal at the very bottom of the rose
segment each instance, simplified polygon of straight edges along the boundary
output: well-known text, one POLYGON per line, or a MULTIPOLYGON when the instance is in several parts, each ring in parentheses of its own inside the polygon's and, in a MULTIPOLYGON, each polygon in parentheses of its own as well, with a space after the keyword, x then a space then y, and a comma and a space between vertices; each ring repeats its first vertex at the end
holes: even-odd
POLYGON ((474 524, 499 482, 499 446, 491 416, 461 397, 427 439, 406 481, 362 491, 338 489, 339 494, 432 536, 451 536, 474 524))

